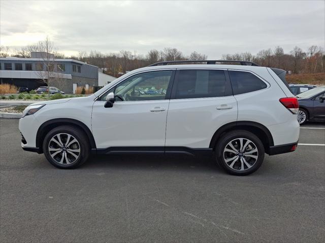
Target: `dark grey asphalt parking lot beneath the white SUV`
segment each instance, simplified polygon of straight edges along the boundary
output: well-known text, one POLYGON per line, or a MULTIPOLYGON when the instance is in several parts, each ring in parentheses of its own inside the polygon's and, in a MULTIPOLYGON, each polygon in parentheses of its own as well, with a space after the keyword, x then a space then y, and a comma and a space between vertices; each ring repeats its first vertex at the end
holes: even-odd
MULTIPOLYGON (((186 155, 59 170, 20 148, 17 119, 0 119, 0 131, 2 243, 325 240, 325 146, 266 155, 246 177, 186 155)), ((325 125, 305 125, 299 143, 325 144, 325 125)))

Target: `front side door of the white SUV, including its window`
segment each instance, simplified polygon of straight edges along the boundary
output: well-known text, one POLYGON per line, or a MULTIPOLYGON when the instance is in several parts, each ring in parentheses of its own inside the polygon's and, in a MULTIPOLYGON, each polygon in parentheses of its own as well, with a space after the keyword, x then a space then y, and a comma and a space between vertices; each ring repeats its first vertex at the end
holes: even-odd
MULTIPOLYGON (((160 147, 164 151, 166 119, 175 70, 142 72, 124 79, 93 104, 91 128, 97 148, 160 147), (145 89, 167 93, 144 94, 145 89), (114 92, 113 107, 105 108, 114 92)), ((149 148, 150 150, 150 148, 149 148)))

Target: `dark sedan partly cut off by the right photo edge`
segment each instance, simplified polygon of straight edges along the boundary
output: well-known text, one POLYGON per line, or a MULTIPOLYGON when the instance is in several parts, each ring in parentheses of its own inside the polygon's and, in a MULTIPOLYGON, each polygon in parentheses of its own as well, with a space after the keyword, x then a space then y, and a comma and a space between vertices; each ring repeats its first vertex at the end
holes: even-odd
POLYGON ((325 86, 308 90, 296 96, 299 100, 298 122, 305 124, 307 120, 325 121, 325 86))

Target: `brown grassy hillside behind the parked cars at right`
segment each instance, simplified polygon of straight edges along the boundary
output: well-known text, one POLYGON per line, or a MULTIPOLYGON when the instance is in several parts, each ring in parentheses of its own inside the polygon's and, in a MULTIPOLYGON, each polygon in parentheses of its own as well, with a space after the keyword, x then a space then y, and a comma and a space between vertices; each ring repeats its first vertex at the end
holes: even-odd
POLYGON ((325 85, 325 72, 287 74, 285 79, 288 84, 325 85))

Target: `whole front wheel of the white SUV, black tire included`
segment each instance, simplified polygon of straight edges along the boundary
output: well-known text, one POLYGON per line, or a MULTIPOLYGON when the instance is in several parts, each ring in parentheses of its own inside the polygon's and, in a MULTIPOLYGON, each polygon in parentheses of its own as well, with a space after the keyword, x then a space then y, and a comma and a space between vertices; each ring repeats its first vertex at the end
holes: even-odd
POLYGON ((60 169, 74 169, 88 159, 90 146, 82 130, 64 125, 52 129, 45 136, 43 151, 53 166, 60 169))

